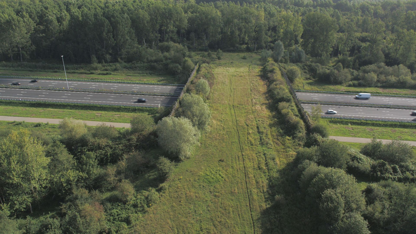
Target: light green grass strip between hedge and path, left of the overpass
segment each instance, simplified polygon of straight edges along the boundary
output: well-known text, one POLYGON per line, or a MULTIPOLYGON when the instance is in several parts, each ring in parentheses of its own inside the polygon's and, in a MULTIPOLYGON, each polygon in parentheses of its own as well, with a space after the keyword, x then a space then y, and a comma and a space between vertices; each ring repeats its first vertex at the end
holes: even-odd
MULTIPOLYGON (((142 114, 146 115, 146 113, 142 114)), ((74 118, 89 121, 129 123, 135 114, 91 110, 64 110, 52 108, 0 106, 0 115, 48 119, 74 118)))

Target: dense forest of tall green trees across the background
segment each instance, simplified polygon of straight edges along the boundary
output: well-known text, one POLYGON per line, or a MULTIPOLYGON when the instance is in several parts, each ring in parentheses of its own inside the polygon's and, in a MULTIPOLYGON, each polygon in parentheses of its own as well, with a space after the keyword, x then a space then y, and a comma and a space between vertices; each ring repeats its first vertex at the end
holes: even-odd
POLYGON ((415 66, 414 0, 2 0, 0 6, 0 60, 67 55, 72 62, 148 62, 148 50, 161 42, 257 51, 280 40, 289 54, 302 48, 312 57, 355 57, 359 67, 415 66))

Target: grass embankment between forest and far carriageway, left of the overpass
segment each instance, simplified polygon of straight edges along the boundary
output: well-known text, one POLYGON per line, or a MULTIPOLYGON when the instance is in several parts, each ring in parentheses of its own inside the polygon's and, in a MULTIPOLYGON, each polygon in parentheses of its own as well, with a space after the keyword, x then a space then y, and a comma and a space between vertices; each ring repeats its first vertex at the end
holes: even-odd
MULTIPOLYGON (((73 80, 94 80, 94 81, 124 81, 124 82, 144 82, 144 83, 163 83, 177 84, 178 79, 172 75, 147 75, 144 72, 117 71, 111 74, 88 74, 85 71, 67 71, 68 79, 73 80)), ((95 72, 92 72, 95 73, 95 72)), ((40 77, 40 78, 56 78, 65 79, 65 74, 54 71, 22 71, 22 70, 5 70, 0 69, 2 76, 23 76, 23 77, 40 77)))

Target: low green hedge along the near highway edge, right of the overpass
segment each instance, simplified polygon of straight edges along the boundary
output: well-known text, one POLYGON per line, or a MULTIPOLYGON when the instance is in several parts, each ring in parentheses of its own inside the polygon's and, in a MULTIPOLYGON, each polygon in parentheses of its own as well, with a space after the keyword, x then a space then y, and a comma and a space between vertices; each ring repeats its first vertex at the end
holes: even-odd
POLYGON ((371 120, 359 120, 359 119, 327 119, 327 121, 330 124, 416 129, 416 123, 411 123, 411 122, 387 122, 387 121, 371 121, 371 120))

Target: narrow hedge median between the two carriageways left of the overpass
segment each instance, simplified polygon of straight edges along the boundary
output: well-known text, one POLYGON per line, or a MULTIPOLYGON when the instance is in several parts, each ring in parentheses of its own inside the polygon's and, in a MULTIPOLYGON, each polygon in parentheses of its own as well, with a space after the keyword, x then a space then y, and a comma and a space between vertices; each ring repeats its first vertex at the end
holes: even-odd
POLYGON ((70 88, 51 88, 51 87, 42 87, 42 86, 11 86, 11 85, 0 85, 0 88, 5 89, 16 89, 16 90, 50 90, 50 91, 63 91, 63 92, 94 92, 94 93, 110 93, 110 94, 127 94, 127 95, 154 95, 154 96, 163 96, 170 97, 175 96, 179 97, 178 94, 168 93, 168 92, 131 92, 131 91, 113 91, 113 90, 95 90, 95 89, 74 89, 70 88))

